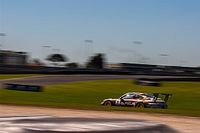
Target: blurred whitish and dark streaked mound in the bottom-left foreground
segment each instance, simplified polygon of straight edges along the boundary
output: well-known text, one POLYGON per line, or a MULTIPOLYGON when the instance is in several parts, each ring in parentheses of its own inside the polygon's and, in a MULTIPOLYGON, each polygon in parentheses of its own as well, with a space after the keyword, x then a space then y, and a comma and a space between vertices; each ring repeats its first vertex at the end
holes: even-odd
POLYGON ((0 117, 0 132, 109 132, 109 133, 177 133, 172 128, 152 121, 108 118, 67 118, 51 116, 0 117))

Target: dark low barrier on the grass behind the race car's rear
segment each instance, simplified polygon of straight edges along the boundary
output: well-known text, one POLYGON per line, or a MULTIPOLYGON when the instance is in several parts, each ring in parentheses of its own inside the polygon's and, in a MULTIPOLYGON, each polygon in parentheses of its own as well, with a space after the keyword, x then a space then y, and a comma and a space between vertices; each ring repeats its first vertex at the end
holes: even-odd
POLYGON ((145 86, 161 86, 160 82, 157 81, 150 81, 150 80, 144 80, 144 79, 136 79, 134 80, 135 84, 137 85, 145 85, 145 86))

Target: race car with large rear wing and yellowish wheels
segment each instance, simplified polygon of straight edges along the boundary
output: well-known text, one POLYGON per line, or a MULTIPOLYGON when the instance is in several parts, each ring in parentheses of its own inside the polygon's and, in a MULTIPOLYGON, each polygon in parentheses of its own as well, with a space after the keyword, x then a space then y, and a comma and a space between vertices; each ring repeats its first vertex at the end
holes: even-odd
POLYGON ((167 101, 172 94, 128 92, 118 99, 108 98, 101 102, 105 106, 132 106, 136 108, 163 108, 167 109, 167 101), (163 99, 160 98, 163 97, 163 99))

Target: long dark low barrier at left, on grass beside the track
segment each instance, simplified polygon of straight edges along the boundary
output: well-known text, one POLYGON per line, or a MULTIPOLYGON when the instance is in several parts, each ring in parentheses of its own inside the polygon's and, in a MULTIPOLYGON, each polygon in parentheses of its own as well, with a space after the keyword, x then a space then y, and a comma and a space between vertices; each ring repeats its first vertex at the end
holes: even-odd
POLYGON ((22 85, 22 84, 11 84, 11 83, 4 84, 3 88, 7 90, 32 91, 32 92, 41 92, 43 90, 43 87, 39 85, 22 85))

